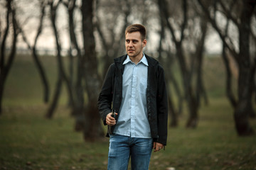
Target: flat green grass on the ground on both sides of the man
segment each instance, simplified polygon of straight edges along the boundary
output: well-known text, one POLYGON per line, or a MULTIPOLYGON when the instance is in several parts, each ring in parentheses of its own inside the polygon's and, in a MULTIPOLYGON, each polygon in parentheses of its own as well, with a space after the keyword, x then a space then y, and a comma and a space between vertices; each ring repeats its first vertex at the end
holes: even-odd
MULTIPOLYGON (((0 118, 0 169, 106 169, 108 140, 84 142, 64 106, 43 118, 46 106, 5 107, 0 118)), ((183 115, 183 117, 186 117, 183 115)), ((169 129, 165 151, 152 153, 150 169, 256 169, 256 138, 238 137, 225 99, 200 111, 198 128, 169 129)), ((251 125, 256 129, 256 121, 251 125)))

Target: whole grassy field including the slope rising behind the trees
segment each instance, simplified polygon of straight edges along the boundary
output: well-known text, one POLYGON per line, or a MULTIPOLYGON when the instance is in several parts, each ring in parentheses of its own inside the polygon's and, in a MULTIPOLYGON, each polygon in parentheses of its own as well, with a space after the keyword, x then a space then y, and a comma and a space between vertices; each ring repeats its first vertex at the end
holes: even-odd
MULTIPOLYGON (((210 104, 200 109, 198 128, 184 128, 184 113, 178 128, 169 129, 166 150, 152 153, 151 170, 256 169, 256 136, 236 134, 233 110, 220 89, 223 68, 216 68, 221 66, 219 60, 209 60, 214 61, 206 61, 210 104)), ((55 62, 46 58, 43 64, 54 86, 55 62)), ((42 102, 36 68, 28 57, 16 59, 0 116, 0 169, 106 169, 108 139, 84 142, 82 134, 73 130, 74 120, 65 103, 63 94, 54 118, 44 118, 48 105, 42 102)), ((256 120, 250 123, 256 130, 256 120)))

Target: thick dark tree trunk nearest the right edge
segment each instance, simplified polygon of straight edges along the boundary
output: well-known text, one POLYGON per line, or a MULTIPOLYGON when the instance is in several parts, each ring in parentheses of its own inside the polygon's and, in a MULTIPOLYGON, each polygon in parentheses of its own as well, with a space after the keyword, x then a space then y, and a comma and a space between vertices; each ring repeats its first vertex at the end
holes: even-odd
MULTIPOLYGON (((249 123, 249 115, 252 110, 252 90, 251 81, 254 69, 250 64, 250 18, 255 8, 255 3, 251 0, 244 1, 241 14, 241 23, 239 29, 239 45, 240 52, 238 58, 239 77, 238 77, 238 106, 235 108, 235 128, 238 135, 252 135, 252 130, 249 123)), ((255 66, 254 66, 255 67, 255 66)))

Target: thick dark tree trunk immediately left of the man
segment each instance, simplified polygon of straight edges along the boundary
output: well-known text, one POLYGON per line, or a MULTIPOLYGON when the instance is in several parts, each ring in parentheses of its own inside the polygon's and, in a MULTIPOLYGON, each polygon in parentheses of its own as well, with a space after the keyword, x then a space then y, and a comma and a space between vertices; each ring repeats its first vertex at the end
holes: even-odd
POLYGON ((89 101, 85 109, 85 126, 83 129, 85 140, 96 140, 102 137, 100 114, 97 111, 97 98, 100 92, 100 77, 97 72, 97 57, 95 52, 95 38, 93 35, 93 0, 82 1, 82 33, 85 50, 85 84, 89 101))

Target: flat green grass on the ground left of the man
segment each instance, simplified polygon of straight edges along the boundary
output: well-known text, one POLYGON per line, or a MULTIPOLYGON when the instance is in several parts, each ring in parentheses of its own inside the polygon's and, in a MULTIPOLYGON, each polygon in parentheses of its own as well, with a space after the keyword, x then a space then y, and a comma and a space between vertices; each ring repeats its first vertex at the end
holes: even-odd
POLYGON ((68 109, 53 120, 43 118, 46 107, 5 108, 0 119, 0 169, 102 169, 105 142, 85 143, 74 132, 68 109))

